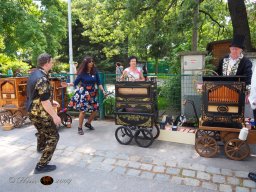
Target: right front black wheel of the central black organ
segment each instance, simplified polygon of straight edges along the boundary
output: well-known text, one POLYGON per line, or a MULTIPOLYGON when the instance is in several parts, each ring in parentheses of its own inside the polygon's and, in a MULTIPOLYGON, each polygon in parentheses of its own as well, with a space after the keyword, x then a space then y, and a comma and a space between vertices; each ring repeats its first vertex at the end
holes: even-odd
POLYGON ((154 137, 148 129, 140 128, 135 132, 135 142, 140 147, 149 147, 154 142, 154 137))

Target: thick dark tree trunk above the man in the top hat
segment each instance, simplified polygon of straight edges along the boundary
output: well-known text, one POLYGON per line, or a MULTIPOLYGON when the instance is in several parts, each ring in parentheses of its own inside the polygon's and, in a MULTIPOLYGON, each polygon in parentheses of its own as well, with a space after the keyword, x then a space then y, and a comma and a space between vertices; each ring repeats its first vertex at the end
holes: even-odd
POLYGON ((228 0, 228 8, 233 26, 233 35, 244 35, 246 50, 253 51, 244 0, 228 0))

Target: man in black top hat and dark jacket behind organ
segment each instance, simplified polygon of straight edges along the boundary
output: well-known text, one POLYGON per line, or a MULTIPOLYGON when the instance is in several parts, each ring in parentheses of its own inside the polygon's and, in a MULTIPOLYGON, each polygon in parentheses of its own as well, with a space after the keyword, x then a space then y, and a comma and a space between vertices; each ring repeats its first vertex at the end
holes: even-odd
POLYGON ((229 47, 230 54, 220 60, 217 73, 221 76, 246 76, 246 90, 250 91, 252 62, 244 57, 244 36, 235 35, 229 47))

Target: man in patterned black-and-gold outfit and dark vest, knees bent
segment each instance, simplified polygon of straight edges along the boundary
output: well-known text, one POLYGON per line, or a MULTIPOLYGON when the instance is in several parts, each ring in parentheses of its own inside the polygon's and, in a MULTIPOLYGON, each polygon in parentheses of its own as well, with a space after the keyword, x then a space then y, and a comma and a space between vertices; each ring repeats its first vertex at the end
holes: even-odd
POLYGON ((42 152, 34 173, 44 173, 56 169, 56 165, 48 165, 59 141, 57 126, 61 119, 53 108, 58 105, 52 100, 51 85, 48 73, 53 67, 51 55, 43 53, 37 59, 38 68, 28 78, 26 110, 29 119, 36 127, 37 150, 42 152))

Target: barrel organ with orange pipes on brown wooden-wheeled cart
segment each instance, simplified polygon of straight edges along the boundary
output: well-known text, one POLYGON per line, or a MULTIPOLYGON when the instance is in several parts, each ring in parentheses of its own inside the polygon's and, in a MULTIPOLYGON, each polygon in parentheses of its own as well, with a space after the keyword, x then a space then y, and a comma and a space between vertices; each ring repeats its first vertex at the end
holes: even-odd
POLYGON ((202 157, 213 157, 224 145, 225 155, 243 160, 250 155, 248 144, 256 143, 256 130, 246 141, 238 139, 244 123, 244 77, 203 77, 202 118, 196 132, 195 149, 202 157))

